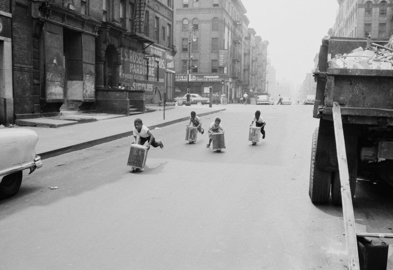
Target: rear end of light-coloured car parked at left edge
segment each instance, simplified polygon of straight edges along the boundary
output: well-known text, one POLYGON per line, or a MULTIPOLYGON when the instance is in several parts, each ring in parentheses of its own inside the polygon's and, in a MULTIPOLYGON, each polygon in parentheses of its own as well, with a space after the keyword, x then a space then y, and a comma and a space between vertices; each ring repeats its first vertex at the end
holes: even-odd
POLYGON ((22 184, 22 171, 42 167, 35 155, 38 135, 35 131, 19 128, 0 128, 0 198, 15 195, 22 184))

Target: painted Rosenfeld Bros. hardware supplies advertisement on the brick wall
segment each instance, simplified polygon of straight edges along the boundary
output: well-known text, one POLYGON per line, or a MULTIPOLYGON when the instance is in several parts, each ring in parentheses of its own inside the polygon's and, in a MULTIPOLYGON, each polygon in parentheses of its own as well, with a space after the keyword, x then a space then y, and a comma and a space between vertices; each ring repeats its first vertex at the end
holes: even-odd
POLYGON ((164 90, 166 64, 167 71, 174 73, 173 56, 170 51, 150 46, 146 48, 146 54, 143 54, 141 49, 134 51, 121 48, 120 81, 124 85, 130 85, 131 89, 144 89, 148 92, 147 95, 151 95, 156 87, 164 90))

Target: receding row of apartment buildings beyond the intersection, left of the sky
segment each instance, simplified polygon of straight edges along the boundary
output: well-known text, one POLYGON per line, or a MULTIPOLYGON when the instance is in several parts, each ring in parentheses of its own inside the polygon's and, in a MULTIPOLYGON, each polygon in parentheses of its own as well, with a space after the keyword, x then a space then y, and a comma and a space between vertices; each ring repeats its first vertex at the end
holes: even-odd
POLYGON ((211 86, 214 95, 224 91, 229 102, 237 102, 245 92, 264 91, 269 43, 248 28, 241 0, 179 0, 174 11, 177 96, 187 93, 189 64, 191 93, 207 96, 204 88, 211 86))

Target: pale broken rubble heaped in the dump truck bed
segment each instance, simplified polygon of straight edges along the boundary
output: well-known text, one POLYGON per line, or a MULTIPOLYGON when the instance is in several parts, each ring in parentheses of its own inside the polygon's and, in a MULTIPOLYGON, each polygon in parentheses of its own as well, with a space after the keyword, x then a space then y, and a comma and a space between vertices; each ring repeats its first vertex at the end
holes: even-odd
POLYGON ((393 70, 393 53, 380 48, 364 50, 362 47, 350 54, 336 54, 328 62, 329 68, 393 70))

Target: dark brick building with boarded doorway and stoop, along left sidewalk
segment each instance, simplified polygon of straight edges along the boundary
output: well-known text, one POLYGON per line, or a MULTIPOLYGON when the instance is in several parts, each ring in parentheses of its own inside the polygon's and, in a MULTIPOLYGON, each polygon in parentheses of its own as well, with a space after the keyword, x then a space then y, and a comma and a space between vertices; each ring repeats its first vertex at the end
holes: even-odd
POLYGON ((15 119, 130 115, 174 88, 172 0, 12 3, 15 119))

